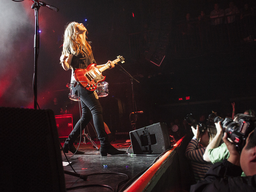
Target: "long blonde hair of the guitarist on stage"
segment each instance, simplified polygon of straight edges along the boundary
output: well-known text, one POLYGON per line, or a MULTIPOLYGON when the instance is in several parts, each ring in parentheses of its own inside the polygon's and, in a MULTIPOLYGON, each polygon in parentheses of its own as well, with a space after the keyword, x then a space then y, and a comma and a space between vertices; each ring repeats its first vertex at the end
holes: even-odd
MULTIPOLYGON (((62 54, 73 54, 75 56, 81 54, 85 55, 83 52, 83 42, 79 35, 77 34, 76 29, 76 23, 75 21, 68 23, 68 25, 65 28, 64 32, 64 41, 63 41, 63 50, 62 54)), ((85 36, 85 39, 87 37, 85 36)), ((85 47, 87 48, 87 51, 89 55, 92 53, 92 48, 90 44, 85 40, 85 47)))

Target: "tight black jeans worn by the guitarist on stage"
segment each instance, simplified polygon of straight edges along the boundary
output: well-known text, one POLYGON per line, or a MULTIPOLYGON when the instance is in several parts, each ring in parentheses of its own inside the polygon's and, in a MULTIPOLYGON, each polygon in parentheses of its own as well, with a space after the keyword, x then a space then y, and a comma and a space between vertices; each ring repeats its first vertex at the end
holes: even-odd
POLYGON ((72 132, 69 134, 68 139, 66 139, 65 143, 74 144, 74 141, 77 139, 77 137, 81 133, 80 124, 81 124, 81 128, 84 129, 85 126, 90 122, 91 118, 93 117, 93 124, 95 126, 101 146, 110 144, 107 133, 104 128, 102 106, 99 103, 99 100, 96 99, 93 91, 85 90, 80 85, 77 85, 73 89, 75 94, 78 93, 80 97, 80 102, 82 107, 82 117, 77 122, 72 132), (90 111, 86 111, 86 109, 88 110, 88 108, 90 109, 90 111))

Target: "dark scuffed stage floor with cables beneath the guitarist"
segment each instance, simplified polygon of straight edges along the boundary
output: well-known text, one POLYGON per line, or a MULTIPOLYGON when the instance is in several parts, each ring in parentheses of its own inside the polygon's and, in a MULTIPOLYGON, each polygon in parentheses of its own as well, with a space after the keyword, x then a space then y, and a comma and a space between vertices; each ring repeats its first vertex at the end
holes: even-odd
MULTIPOLYGON (((63 142, 61 144, 63 145, 63 142)), ((126 144, 126 140, 116 140, 111 144, 115 148, 124 151, 127 151, 130 146, 130 143, 126 144)), ((97 146, 100 146, 99 141, 97 146)), ((75 147, 77 148, 78 144, 75 147)), ((90 142, 80 144, 79 150, 85 152, 85 154, 72 156, 73 154, 69 152, 66 156, 78 174, 89 176, 85 181, 78 177, 64 174, 67 191, 120 191, 127 182, 131 181, 139 173, 144 172, 157 158, 157 155, 135 156, 128 154, 102 157, 99 150, 96 150, 90 142), (107 165, 107 167, 104 165, 107 165)), ((128 153, 132 153, 132 148, 129 148, 128 153)), ((62 161, 67 162, 63 152, 61 152, 61 155, 62 161)), ((63 166, 63 169, 73 172, 71 166, 63 166)))

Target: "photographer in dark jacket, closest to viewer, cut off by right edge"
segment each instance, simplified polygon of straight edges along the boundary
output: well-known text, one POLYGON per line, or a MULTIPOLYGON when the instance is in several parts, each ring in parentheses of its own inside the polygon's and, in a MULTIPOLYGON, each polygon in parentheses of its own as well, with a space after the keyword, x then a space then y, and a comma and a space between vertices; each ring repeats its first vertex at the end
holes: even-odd
MULTIPOLYGON (((255 124, 254 124, 255 128, 255 124)), ((223 141, 230 153, 222 163, 215 163, 204 180, 192 185, 190 191, 256 191, 256 128, 249 133, 241 155, 235 143, 224 133, 223 141), (246 177, 241 177, 244 171, 246 177)))

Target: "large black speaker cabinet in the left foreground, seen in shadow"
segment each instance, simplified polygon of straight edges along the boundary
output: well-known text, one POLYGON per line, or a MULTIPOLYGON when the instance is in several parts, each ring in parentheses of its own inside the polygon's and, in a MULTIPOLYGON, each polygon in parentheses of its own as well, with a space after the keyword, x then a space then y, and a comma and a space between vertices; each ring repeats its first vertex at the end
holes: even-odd
POLYGON ((53 111, 0 107, 0 135, 1 191, 66 191, 53 111))

